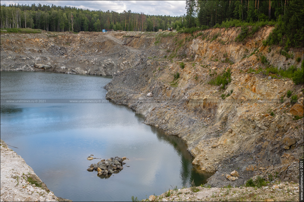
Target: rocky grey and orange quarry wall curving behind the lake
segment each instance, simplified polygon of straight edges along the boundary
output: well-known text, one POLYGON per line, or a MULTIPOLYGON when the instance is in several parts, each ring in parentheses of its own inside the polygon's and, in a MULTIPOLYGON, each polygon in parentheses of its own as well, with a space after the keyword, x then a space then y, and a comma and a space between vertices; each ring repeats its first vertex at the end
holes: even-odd
POLYGON ((303 48, 290 51, 294 57, 286 60, 280 47, 262 46, 271 30, 261 28, 244 42, 235 41, 238 28, 193 35, 5 35, 1 70, 115 75, 105 86, 107 98, 145 115, 146 124, 182 138, 195 157, 193 164, 218 171, 209 180, 212 186, 244 184, 257 174, 298 181, 304 131, 303 118, 294 119, 303 116, 303 85, 253 70, 264 68, 262 55, 278 67, 299 67, 295 58, 303 60, 303 48), (228 68, 231 81, 225 88, 209 84, 228 68), (295 104, 288 90, 299 98, 295 104), (240 179, 225 181, 224 174, 233 170, 240 179))

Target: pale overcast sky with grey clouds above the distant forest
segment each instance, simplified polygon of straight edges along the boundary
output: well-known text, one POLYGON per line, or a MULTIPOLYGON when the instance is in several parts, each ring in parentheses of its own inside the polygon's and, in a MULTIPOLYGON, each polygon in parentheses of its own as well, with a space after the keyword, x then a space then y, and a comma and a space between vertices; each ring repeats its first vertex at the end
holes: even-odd
POLYGON ((60 5, 60 6, 75 6, 77 8, 84 8, 90 10, 102 11, 116 11, 123 12, 123 10, 140 13, 143 12, 149 15, 171 15, 179 16, 186 13, 186 1, 0 1, 1 4, 46 4, 46 5, 60 5))

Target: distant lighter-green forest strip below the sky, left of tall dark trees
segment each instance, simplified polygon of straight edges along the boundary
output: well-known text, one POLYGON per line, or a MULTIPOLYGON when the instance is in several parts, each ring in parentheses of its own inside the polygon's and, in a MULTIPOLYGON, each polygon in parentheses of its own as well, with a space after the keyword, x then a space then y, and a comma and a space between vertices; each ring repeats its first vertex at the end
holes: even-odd
MULTIPOLYGON (((91 11, 56 5, 0 5, 1 28, 33 28, 46 31, 158 31, 167 29, 180 17, 146 15, 131 10, 91 11)), ((182 25, 181 25, 182 26, 182 25)))

